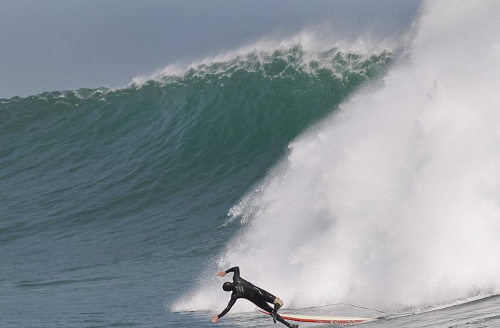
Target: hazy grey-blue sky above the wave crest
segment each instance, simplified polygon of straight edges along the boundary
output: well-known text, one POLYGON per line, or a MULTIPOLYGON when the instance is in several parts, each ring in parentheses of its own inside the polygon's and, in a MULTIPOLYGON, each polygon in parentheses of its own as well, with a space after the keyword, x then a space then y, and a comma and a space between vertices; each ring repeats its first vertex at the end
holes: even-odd
POLYGON ((417 0, 0 0, 0 98, 123 86, 169 63, 324 22, 403 30, 418 8, 417 0))

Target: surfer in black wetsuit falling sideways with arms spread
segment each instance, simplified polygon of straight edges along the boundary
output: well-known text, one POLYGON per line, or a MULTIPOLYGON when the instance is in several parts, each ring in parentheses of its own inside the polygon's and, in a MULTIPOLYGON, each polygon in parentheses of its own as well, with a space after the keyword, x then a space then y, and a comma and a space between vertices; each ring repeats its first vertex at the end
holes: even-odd
POLYGON ((212 318, 212 322, 217 322, 221 317, 224 316, 231 307, 233 307, 234 303, 236 303, 236 299, 244 298, 248 299, 250 302, 256 304, 257 307, 260 307, 266 312, 269 312, 273 317, 273 321, 276 324, 276 320, 285 324, 286 327, 297 328, 298 324, 290 324, 286 322, 279 314, 278 309, 283 306, 283 301, 279 299, 279 297, 274 296, 273 294, 266 292, 264 289, 256 287, 252 285, 250 282, 247 282, 243 278, 239 276, 239 267, 231 267, 231 269, 226 271, 221 271, 217 273, 218 277, 224 277, 227 273, 234 272, 233 282, 224 282, 222 285, 222 289, 226 292, 232 292, 231 299, 227 304, 226 309, 224 309, 221 314, 216 315, 212 318), (274 304, 274 308, 272 308, 268 303, 274 304))

